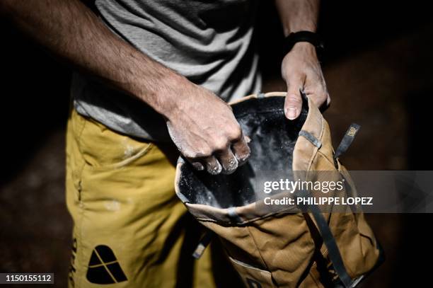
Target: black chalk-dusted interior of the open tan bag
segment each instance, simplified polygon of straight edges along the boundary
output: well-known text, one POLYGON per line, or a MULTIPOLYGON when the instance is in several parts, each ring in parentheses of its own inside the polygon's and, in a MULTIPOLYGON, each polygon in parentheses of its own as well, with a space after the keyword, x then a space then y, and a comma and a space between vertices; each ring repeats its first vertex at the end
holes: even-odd
POLYGON ((285 175, 291 175, 294 144, 308 114, 306 103, 304 100, 301 115, 296 120, 285 117, 282 96, 251 98, 232 105, 243 133, 251 139, 248 162, 230 175, 210 175, 206 171, 196 171, 185 161, 178 183, 179 192, 187 202, 219 208, 255 202, 258 171, 284 171, 285 175))

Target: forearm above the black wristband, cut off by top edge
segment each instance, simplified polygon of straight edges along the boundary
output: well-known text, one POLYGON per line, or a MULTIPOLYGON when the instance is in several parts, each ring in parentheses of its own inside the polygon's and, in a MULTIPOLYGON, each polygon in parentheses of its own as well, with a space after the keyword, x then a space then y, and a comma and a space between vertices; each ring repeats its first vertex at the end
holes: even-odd
POLYGON ((301 30, 316 31, 319 0, 275 0, 275 4, 285 36, 301 30))

